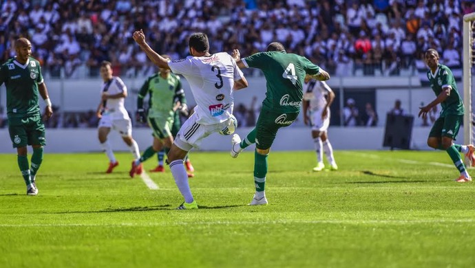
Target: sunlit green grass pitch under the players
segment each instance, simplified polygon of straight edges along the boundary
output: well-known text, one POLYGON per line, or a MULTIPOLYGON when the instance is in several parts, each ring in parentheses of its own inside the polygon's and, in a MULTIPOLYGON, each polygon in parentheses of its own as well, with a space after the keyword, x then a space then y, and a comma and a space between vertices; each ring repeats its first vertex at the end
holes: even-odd
POLYGON ((336 151, 335 172, 312 172, 311 151, 272 152, 256 207, 253 156, 191 153, 200 209, 178 211, 169 168, 147 172, 151 190, 128 177, 129 153, 109 175, 103 153, 45 153, 36 197, 16 155, 0 155, 0 267, 475 264, 475 186, 454 182, 445 152, 336 151))

